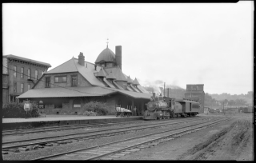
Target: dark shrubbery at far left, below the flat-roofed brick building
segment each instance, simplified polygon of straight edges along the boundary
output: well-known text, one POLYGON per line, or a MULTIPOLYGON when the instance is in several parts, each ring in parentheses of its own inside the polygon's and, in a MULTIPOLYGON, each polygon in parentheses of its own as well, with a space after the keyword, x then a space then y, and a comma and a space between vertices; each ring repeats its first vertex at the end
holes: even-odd
POLYGON ((27 112, 24 110, 24 102, 10 102, 2 107, 2 117, 39 117, 41 114, 38 111, 37 101, 32 101, 32 109, 27 112))

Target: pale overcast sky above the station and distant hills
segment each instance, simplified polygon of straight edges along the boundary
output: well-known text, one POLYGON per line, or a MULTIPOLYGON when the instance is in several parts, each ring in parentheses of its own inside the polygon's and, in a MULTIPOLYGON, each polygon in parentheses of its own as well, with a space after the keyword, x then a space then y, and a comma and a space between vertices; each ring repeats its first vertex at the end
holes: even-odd
POLYGON ((3 4, 3 55, 94 63, 122 46, 122 72, 141 85, 253 90, 253 1, 181 4, 3 4))

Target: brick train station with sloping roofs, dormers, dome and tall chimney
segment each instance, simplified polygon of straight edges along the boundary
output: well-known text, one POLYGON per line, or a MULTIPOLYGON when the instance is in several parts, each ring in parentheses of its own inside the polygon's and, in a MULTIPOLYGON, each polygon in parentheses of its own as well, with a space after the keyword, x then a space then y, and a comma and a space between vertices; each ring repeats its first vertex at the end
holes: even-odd
POLYGON ((78 58, 48 71, 18 98, 38 101, 40 112, 46 114, 77 114, 89 101, 106 102, 110 114, 116 113, 116 105, 136 106, 143 114, 152 94, 122 72, 122 46, 115 47, 115 54, 106 46, 94 63, 85 58, 80 52, 78 58))

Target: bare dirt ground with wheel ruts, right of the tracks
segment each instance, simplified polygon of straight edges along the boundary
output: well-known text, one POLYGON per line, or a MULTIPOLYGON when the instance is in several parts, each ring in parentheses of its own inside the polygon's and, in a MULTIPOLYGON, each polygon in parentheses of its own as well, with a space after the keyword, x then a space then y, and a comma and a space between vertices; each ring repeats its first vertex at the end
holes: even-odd
POLYGON ((252 114, 230 116, 231 121, 116 159, 254 161, 252 114))

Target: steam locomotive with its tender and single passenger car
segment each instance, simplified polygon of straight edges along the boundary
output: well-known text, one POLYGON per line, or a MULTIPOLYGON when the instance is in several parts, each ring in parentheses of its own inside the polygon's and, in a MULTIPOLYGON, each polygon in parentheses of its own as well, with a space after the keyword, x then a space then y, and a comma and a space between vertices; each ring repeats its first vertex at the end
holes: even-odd
POLYGON ((155 97, 146 104, 144 120, 194 117, 199 113, 200 103, 186 98, 155 97))

